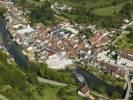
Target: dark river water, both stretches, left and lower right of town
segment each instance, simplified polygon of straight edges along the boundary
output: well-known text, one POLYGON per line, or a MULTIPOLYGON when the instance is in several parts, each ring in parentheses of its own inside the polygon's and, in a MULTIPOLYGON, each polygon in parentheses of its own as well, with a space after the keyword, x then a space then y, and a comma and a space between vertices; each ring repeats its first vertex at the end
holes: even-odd
MULTIPOLYGON (((6 29, 6 23, 4 21, 3 17, 0 17, 0 36, 2 36, 3 39, 3 44, 8 50, 8 52, 13 56, 15 59, 15 62, 23 67, 27 68, 28 67, 28 60, 22 53, 21 47, 12 40, 12 37, 10 35, 10 32, 6 29)), ((98 79, 96 76, 93 74, 90 74, 88 72, 85 72, 84 70, 78 69, 78 72, 83 75, 83 77, 86 79, 88 86, 92 88, 93 90, 97 90, 99 87, 105 87, 106 91, 109 95, 113 93, 113 91, 117 91, 120 94, 123 93, 123 90, 114 86, 111 86, 109 84, 106 84, 102 80, 98 79)))

